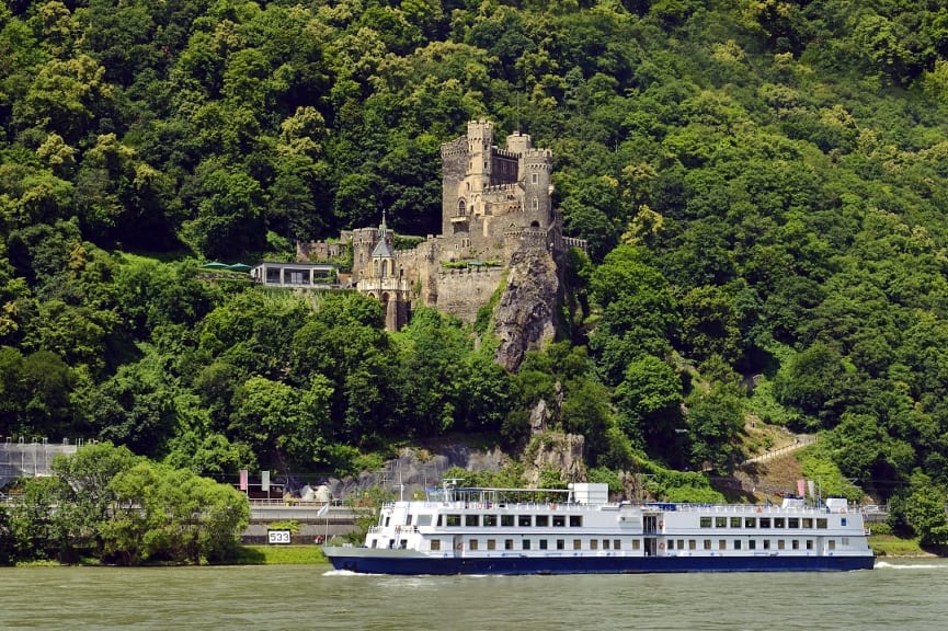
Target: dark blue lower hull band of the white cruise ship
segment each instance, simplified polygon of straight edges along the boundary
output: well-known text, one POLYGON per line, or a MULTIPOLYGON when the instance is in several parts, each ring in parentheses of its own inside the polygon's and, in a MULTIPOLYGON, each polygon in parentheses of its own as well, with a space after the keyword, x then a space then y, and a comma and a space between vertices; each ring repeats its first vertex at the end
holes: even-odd
POLYGON ((871 557, 492 557, 380 559, 333 555, 336 570, 363 574, 639 574, 667 572, 835 572, 871 570, 871 557))

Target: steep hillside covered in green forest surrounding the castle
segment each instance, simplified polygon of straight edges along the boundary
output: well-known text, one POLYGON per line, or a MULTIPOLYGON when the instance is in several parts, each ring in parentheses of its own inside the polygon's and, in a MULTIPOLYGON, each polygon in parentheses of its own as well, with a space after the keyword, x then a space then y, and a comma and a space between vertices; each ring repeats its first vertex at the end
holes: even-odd
POLYGON ((0 435, 342 472, 523 447, 544 400, 599 475, 729 472, 753 421, 822 433, 827 491, 944 498, 945 0, 8 0, 0 122, 0 435), (517 374, 486 324, 198 274, 438 232, 472 118, 552 150, 590 243, 517 374))

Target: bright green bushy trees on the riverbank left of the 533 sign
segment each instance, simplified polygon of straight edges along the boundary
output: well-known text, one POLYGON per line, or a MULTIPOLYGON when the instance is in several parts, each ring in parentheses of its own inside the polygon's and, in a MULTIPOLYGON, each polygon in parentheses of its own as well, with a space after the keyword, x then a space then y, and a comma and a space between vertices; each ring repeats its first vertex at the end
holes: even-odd
POLYGON ((126 447, 83 447, 53 470, 22 481, 20 502, 0 513, 0 563, 225 561, 250 520, 247 497, 230 485, 126 447))

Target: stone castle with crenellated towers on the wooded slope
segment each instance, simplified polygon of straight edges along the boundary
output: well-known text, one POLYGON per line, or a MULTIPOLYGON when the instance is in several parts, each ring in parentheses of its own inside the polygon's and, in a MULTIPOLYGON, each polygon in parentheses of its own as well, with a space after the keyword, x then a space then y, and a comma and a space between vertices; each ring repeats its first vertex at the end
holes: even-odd
MULTIPOLYGON (((467 135, 442 145, 442 233, 412 250, 396 250, 382 214, 378 228, 345 231, 352 244, 351 284, 385 305, 386 328, 408 322, 424 305, 473 322, 504 278, 514 253, 542 252, 561 261, 567 248, 585 242, 562 236, 550 182, 552 153, 515 133, 494 145, 488 121, 468 123, 467 135)), ((338 256, 338 244, 298 249, 301 261, 338 256)))

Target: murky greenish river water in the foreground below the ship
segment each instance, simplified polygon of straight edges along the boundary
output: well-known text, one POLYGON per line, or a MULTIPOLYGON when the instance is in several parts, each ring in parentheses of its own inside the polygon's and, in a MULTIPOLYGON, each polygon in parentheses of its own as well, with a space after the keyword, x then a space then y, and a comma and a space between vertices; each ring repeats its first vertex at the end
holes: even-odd
POLYGON ((2 629, 943 630, 948 560, 827 574, 363 576, 328 565, 0 569, 2 629))

